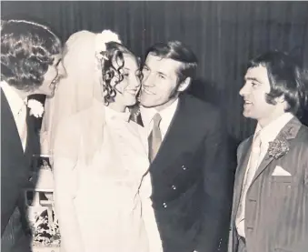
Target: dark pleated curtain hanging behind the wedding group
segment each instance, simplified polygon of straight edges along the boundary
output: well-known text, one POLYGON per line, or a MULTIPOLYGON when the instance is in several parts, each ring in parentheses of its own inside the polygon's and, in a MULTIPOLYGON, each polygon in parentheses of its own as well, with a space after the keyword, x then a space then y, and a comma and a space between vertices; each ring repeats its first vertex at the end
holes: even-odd
POLYGON ((156 42, 177 39, 198 56, 191 92, 220 106, 236 142, 253 133, 242 116, 244 66, 254 55, 279 49, 308 66, 308 2, 1 2, 7 18, 50 25, 63 41, 87 29, 118 32, 136 55, 156 42))

